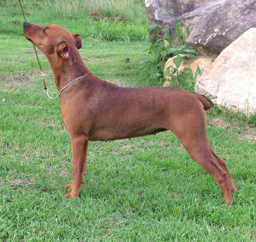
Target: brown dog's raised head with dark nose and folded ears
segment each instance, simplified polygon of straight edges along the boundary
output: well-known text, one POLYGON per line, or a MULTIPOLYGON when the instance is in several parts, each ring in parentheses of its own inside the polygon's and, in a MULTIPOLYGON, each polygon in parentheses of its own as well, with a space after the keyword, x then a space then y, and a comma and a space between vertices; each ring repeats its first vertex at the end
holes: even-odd
POLYGON ((59 58, 68 59, 70 65, 76 62, 74 48, 82 48, 81 35, 73 35, 55 24, 40 26, 30 22, 23 23, 23 31, 25 37, 43 51, 46 57, 56 55, 59 58))

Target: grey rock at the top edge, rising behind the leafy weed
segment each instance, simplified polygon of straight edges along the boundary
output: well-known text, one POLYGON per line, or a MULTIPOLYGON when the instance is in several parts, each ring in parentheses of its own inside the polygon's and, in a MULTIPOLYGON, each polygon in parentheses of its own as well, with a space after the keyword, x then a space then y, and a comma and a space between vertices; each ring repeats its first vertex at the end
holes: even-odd
MULTIPOLYGON (((148 21, 152 24, 161 24, 169 29, 172 40, 178 43, 176 37, 175 22, 173 15, 165 7, 169 7, 179 22, 186 25, 189 31, 192 31, 195 24, 208 13, 223 6, 227 0, 145 0, 145 9, 148 21)), ((180 26, 184 37, 186 38, 186 30, 180 26)))

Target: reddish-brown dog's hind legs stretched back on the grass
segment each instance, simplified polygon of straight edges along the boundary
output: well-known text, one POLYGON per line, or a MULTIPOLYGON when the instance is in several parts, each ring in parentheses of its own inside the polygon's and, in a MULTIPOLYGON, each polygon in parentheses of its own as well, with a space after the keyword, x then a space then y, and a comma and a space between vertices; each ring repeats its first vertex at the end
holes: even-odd
POLYGON ((206 114, 192 112, 186 119, 180 119, 173 132, 182 142, 189 156, 217 181, 226 204, 233 203, 231 189, 236 189, 226 163, 213 151, 206 134, 206 114))

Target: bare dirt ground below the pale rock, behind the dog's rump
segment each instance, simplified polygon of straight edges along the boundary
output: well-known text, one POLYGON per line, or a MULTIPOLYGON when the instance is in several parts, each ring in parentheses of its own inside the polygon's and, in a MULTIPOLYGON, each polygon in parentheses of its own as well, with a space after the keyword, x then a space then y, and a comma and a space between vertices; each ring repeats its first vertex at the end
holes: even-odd
MULTIPOLYGON (((234 129, 239 128, 239 126, 236 123, 229 123, 227 121, 224 121, 222 118, 217 117, 215 119, 211 119, 211 123, 216 127, 221 128, 232 128, 232 131, 234 129)), ((243 128, 240 129, 241 131, 236 132, 239 135, 239 139, 248 139, 248 142, 252 143, 254 140, 256 140, 256 127, 253 125, 245 125, 243 128)))

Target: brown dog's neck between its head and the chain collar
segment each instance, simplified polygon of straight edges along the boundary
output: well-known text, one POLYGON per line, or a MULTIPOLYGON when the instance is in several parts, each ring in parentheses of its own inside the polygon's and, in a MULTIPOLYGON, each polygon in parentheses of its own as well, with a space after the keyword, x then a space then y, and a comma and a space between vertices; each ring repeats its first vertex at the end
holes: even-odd
POLYGON ((75 49, 74 52, 76 62, 71 66, 69 64, 69 59, 63 59, 56 55, 47 56, 52 72, 54 73, 54 80, 58 91, 60 91, 61 88, 67 85, 70 81, 89 72, 89 69, 85 66, 78 49, 75 49))

